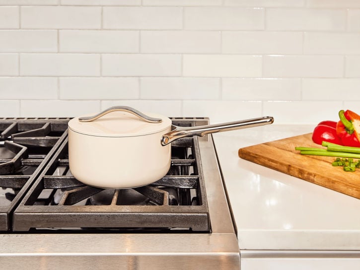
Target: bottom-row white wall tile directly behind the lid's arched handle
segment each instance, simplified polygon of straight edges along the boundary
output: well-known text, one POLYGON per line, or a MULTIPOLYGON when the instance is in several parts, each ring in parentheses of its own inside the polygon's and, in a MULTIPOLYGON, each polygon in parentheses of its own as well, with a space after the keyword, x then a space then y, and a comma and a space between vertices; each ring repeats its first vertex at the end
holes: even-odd
POLYGON ((180 117, 180 100, 102 100, 101 110, 112 106, 130 106, 143 113, 158 113, 166 117, 180 117))

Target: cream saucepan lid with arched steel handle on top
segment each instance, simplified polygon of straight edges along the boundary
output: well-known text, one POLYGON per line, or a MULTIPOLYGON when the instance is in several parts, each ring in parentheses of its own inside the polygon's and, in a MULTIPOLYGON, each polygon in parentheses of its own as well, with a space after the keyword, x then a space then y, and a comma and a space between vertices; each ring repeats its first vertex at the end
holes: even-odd
POLYGON ((159 114, 144 114, 131 107, 115 106, 96 115, 75 117, 68 126, 83 135, 131 137, 165 131, 171 126, 171 120, 159 114))

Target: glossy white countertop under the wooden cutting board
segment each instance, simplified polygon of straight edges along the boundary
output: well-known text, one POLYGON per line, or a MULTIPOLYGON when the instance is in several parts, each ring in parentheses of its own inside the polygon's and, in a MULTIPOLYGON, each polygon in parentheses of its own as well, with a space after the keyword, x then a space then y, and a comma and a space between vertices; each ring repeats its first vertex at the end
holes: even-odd
POLYGON ((360 250, 359 199, 238 157, 241 147, 313 128, 273 124, 213 135, 240 250, 360 250))

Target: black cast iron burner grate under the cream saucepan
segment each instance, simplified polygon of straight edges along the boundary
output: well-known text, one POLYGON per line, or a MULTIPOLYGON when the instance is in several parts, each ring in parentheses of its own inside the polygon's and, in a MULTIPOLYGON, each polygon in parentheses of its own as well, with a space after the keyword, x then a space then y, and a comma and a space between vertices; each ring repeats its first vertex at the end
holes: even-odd
POLYGON ((171 168, 157 182, 127 190, 100 189, 72 176, 66 138, 14 211, 13 230, 210 232, 198 137, 179 139, 171 150, 171 168))

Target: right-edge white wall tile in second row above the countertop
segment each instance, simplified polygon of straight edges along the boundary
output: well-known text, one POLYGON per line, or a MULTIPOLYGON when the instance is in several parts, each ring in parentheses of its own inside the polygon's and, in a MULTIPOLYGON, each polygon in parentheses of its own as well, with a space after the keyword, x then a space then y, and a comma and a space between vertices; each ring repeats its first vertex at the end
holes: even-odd
POLYGON ((303 79, 303 100, 360 100, 360 78, 303 79), (351 93, 351 94, 347 94, 351 93))

